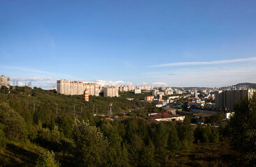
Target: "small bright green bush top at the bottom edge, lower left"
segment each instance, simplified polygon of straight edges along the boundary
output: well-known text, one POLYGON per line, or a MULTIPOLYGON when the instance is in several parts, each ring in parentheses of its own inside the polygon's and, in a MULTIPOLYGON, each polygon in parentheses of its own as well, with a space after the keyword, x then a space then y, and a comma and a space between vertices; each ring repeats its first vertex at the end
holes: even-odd
POLYGON ((46 152, 41 154, 36 161, 36 167, 59 167, 59 161, 55 159, 54 152, 46 152))

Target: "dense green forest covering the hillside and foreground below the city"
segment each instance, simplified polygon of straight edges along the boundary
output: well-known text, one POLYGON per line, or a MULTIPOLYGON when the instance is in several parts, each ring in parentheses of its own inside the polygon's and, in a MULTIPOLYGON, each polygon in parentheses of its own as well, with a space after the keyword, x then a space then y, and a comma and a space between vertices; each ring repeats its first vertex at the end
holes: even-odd
POLYGON ((208 122, 218 122, 218 128, 194 129, 189 117, 184 122, 148 121, 148 112, 161 111, 142 101, 148 94, 90 96, 84 102, 83 95, 1 88, 0 166, 256 164, 256 96, 236 104, 231 120, 211 117, 208 122), (109 103, 113 120, 106 119, 109 103))

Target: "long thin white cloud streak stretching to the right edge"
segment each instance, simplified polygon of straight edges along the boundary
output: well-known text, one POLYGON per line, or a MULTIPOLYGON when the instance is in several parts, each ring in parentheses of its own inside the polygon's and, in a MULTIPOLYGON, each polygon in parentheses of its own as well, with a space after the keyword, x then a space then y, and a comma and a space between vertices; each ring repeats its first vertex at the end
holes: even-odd
POLYGON ((194 62, 178 62, 178 63, 166 63, 159 65, 152 65, 150 67, 173 67, 173 66, 184 66, 184 65, 217 65, 217 64, 227 64, 227 63, 241 63, 248 61, 256 61, 256 57, 252 58, 236 58, 224 61, 194 61, 194 62))

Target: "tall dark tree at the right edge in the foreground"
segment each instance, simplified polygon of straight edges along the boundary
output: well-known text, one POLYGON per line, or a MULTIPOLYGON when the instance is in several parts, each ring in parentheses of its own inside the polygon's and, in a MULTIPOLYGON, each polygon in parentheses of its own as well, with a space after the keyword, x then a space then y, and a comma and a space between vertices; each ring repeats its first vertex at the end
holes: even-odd
POLYGON ((234 108, 230 119, 229 141, 243 152, 246 166, 256 164, 256 95, 250 100, 243 99, 234 108))

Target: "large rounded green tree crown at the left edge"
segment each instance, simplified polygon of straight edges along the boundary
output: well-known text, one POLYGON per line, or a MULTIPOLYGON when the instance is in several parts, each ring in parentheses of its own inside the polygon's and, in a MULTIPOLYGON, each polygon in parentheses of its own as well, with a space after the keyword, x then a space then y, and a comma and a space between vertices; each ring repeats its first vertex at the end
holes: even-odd
POLYGON ((27 127, 24 119, 19 113, 13 111, 7 103, 0 104, 0 122, 3 131, 10 140, 27 138, 27 127))

